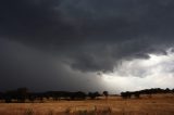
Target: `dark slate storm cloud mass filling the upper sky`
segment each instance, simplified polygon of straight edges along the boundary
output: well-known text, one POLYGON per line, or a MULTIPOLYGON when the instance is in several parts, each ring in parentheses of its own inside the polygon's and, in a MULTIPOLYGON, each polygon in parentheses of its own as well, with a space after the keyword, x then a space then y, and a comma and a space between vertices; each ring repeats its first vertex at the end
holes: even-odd
POLYGON ((173 0, 1 0, 1 37, 83 72, 173 46, 173 0))

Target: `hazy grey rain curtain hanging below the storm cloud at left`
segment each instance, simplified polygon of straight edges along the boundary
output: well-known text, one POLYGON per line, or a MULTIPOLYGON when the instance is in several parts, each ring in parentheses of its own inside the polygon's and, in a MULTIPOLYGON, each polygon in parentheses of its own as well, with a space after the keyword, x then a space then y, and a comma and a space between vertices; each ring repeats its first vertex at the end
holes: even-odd
POLYGON ((75 73, 57 58, 15 41, 0 39, 0 43, 1 91, 18 87, 33 91, 103 89, 95 74, 75 73))

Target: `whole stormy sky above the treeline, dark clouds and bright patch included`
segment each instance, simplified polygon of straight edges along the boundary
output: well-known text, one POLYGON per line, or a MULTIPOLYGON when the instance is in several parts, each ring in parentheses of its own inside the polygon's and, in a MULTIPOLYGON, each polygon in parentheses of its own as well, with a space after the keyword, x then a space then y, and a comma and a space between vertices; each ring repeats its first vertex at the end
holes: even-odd
POLYGON ((174 88, 173 0, 0 0, 0 90, 174 88))

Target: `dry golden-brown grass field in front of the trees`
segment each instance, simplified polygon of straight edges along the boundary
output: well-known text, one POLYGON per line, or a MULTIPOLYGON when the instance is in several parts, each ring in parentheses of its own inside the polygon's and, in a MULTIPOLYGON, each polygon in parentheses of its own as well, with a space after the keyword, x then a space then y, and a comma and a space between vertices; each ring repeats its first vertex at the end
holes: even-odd
POLYGON ((174 115, 174 94, 140 99, 0 103, 0 115, 174 115))

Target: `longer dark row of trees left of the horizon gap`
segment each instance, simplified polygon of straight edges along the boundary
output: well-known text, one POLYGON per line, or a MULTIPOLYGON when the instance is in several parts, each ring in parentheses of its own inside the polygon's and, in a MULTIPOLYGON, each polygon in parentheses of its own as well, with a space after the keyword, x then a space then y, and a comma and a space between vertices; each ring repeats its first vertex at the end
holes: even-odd
MULTIPOLYGON (((34 102, 39 100, 40 102, 45 100, 95 100, 101 97, 98 91, 85 93, 83 91, 69 92, 69 91, 47 91, 47 92, 29 92, 27 88, 18 88, 16 90, 10 90, 5 92, 0 92, 0 100, 4 100, 5 103, 18 102, 24 103, 26 100, 34 102)), ((103 95, 108 97, 108 91, 103 91, 103 95)))

